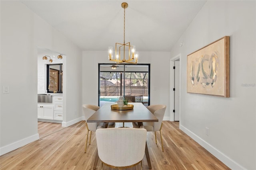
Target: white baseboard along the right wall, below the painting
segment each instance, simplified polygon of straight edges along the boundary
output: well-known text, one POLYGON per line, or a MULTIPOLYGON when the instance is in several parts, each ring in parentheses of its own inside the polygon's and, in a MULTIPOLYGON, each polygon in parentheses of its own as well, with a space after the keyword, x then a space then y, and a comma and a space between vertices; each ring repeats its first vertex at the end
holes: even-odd
POLYGON ((218 158, 221 162, 223 162, 226 166, 231 168, 232 170, 246 170, 246 168, 242 167, 240 164, 230 159, 228 156, 220 152, 220 150, 214 148, 212 145, 204 141, 202 138, 198 137, 196 134, 188 130, 186 127, 180 125, 180 130, 184 131, 189 137, 194 139, 199 145, 204 147, 208 152, 213 154, 216 158, 218 158))

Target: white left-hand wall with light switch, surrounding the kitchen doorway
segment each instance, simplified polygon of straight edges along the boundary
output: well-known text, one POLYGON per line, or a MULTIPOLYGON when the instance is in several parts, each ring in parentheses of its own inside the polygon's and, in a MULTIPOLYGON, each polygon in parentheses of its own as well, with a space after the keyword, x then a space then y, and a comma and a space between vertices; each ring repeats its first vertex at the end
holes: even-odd
POLYGON ((82 51, 20 1, 0 1, 0 154, 39 138, 37 47, 66 54, 64 125, 82 116, 82 51), (9 86, 9 94, 3 94, 9 86))

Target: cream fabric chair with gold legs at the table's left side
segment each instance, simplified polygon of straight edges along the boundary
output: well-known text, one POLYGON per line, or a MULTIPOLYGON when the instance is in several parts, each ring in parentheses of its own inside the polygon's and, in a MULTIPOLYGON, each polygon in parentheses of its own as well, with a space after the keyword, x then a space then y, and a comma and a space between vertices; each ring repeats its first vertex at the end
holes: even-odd
POLYGON ((91 132, 90 142, 89 142, 89 145, 91 145, 92 131, 96 131, 96 129, 99 129, 99 128, 115 127, 115 123, 88 123, 87 122, 87 119, 89 119, 89 117, 91 117, 91 115, 95 113, 99 108, 100 107, 96 105, 83 104, 83 113, 85 116, 86 128, 87 128, 87 137, 86 137, 84 153, 86 153, 89 132, 91 132))

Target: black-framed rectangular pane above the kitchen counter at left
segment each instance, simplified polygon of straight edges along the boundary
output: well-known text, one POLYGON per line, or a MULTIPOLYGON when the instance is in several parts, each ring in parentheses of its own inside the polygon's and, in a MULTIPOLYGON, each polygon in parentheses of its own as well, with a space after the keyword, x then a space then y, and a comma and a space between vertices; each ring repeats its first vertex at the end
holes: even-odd
POLYGON ((63 65, 47 64, 47 93, 62 93, 63 89, 63 65))

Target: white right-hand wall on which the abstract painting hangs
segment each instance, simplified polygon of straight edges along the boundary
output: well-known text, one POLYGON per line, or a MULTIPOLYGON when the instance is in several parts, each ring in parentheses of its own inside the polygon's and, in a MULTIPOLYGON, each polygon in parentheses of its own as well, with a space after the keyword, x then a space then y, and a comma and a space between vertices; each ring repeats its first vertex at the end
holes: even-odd
POLYGON ((171 56, 179 53, 180 128, 230 168, 255 170, 256 1, 206 2, 171 56), (230 98, 186 93, 187 55, 225 35, 230 36, 230 98))

